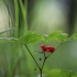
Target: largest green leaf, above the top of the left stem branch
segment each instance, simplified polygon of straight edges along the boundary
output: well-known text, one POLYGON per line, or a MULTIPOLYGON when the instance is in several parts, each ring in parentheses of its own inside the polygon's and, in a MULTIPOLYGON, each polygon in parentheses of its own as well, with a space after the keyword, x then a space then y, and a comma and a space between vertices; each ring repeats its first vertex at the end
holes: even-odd
POLYGON ((19 42, 29 44, 29 43, 37 43, 40 41, 44 40, 44 36, 32 31, 28 31, 25 35, 21 36, 19 38, 19 42))

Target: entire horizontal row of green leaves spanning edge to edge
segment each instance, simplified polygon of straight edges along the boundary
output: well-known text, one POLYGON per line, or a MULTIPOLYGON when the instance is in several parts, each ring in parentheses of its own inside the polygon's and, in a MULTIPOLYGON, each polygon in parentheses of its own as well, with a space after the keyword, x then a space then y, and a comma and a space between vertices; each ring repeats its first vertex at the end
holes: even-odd
POLYGON ((30 43, 37 43, 41 41, 45 41, 45 42, 50 42, 50 41, 58 41, 58 42, 66 42, 66 41, 73 41, 73 40, 77 40, 77 33, 73 34, 70 37, 67 37, 68 34, 67 33, 63 33, 62 31, 55 31, 48 35, 45 34, 40 34, 33 31, 28 31, 23 36, 19 37, 19 38, 14 38, 14 37, 0 37, 0 40, 3 41, 16 41, 23 44, 30 44, 30 43))

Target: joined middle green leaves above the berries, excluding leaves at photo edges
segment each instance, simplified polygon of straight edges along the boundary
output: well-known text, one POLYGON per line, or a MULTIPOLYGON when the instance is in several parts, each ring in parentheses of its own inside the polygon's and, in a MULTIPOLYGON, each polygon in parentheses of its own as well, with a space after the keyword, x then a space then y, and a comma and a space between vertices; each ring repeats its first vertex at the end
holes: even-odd
POLYGON ((29 44, 29 43, 37 43, 40 41, 59 41, 59 42, 65 42, 67 40, 68 34, 63 33, 62 31, 55 31, 51 33, 50 35, 42 35, 36 32, 28 31, 23 36, 19 38, 19 42, 29 44))

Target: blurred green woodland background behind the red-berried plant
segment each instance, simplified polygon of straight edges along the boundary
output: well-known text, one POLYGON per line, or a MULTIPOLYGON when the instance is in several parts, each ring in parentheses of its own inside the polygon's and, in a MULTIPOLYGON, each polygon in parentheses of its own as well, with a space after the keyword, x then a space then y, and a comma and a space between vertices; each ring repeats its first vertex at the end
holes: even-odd
MULTIPOLYGON (((69 36, 77 32, 76 0, 0 0, 0 37, 20 37, 26 31, 50 34, 62 30, 69 36)), ((61 43, 40 42, 28 45, 36 58, 41 45, 57 47, 61 43)), ((51 69, 77 72, 77 41, 66 42, 47 59, 44 74, 51 69)), ((24 46, 0 40, 0 77, 37 77, 38 69, 24 46)))

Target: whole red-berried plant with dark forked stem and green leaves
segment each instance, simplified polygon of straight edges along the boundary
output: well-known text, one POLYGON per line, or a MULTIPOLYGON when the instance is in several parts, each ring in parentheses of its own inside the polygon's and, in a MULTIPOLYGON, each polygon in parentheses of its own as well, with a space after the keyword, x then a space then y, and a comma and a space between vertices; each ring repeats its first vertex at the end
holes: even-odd
MULTIPOLYGON (((0 37, 0 40, 11 41, 11 42, 15 41, 15 42, 24 45, 26 47, 28 52, 30 53, 31 57, 33 58, 34 63, 36 64, 36 66, 37 66, 37 68, 40 70, 40 76, 43 77, 43 68, 44 68, 46 59, 51 56, 51 54, 56 52, 56 50, 59 46, 62 46, 62 44, 64 44, 65 42, 77 40, 77 33, 74 33, 70 37, 68 37, 68 34, 67 33, 63 33, 62 31, 55 31, 55 32, 52 32, 48 35, 38 34, 36 32, 28 31, 23 36, 21 36, 19 38, 0 37), (38 43, 41 41, 51 42, 51 41, 54 41, 54 40, 61 42, 61 44, 56 48, 54 46, 46 46, 46 45, 43 44, 41 46, 42 52, 40 52, 40 53, 43 54, 44 58, 43 58, 43 61, 42 61, 42 58, 40 58, 40 61, 42 61, 42 65, 38 65, 36 59, 35 59, 35 57, 33 56, 32 52, 28 47, 28 44, 30 44, 30 43, 34 44, 34 43, 38 43)), ((36 70, 36 68, 35 68, 35 70, 36 70)), ((57 75, 58 77, 62 77, 62 74, 65 73, 65 72, 68 73, 67 77, 77 77, 77 74, 74 73, 74 72, 68 72, 68 70, 55 70, 55 72, 58 72, 58 74, 59 74, 59 76, 57 75)), ((56 77, 54 75, 52 74, 52 77, 56 77)))

